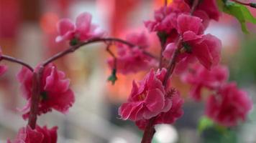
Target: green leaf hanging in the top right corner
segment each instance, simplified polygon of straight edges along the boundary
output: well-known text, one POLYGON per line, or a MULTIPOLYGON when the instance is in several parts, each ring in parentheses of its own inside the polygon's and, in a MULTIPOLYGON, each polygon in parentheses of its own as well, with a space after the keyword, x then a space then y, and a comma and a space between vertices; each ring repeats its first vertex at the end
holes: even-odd
POLYGON ((244 33, 249 33, 246 22, 251 22, 252 24, 256 24, 255 17, 252 16, 250 11, 247 9, 246 6, 242 4, 237 4, 232 1, 227 0, 217 0, 219 9, 229 15, 234 16, 241 24, 242 31, 244 33))

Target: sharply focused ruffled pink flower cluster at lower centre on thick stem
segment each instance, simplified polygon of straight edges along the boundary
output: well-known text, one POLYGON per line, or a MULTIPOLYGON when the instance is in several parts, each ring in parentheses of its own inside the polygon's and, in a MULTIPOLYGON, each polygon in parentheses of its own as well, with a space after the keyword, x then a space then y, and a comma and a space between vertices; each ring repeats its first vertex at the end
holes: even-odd
POLYGON ((163 85, 166 69, 150 70, 138 85, 133 82, 127 103, 119 108, 122 119, 130 119, 144 129, 144 123, 155 117, 155 124, 170 124, 181 117, 183 99, 175 89, 163 85))

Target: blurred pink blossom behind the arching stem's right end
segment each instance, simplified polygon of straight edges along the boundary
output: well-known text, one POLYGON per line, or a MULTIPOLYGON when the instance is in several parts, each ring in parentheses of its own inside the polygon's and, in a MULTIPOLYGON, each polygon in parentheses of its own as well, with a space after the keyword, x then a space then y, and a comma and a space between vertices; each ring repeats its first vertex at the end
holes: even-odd
MULTIPOLYGON (((150 69, 151 66, 155 65, 155 60, 144 53, 149 44, 147 36, 143 32, 128 34, 127 41, 137 46, 130 47, 124 44, 116 44, 118 52, 118 56, 116 56, 117 72, 122 74, 136 73, 137 71, 150 69)), ((111 69, 114 69, 114 59, 109 59, 108 64, 111 69)))

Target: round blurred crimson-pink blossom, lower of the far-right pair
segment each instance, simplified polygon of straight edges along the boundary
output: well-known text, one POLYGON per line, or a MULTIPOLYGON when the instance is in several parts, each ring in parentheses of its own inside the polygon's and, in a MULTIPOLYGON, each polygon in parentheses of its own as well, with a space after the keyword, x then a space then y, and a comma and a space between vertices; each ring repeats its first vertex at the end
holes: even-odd
POLYGON ((209 97, 206 115, 221 125, 232 127, 244 121, 250 109, 252 100, 247 93, 238 89, 235 83, 230 83, 209 97))

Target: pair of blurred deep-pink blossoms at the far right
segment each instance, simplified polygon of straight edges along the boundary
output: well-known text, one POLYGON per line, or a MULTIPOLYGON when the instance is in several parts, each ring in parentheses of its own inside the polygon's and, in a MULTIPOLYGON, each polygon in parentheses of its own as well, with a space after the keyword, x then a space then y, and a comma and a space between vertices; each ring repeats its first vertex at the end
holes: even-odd
POLYGON ((246 119, 252 109, 252 100, 234 82, 227 82, 228 75, 226 66, 214 66, 209 71, 196 64, 183 74, 183 81, 191 84, 190 95, 197 101, 202 99, 203 88, 211 91, 207 97, 206 115, 223 126, 232 127, 246 119))

